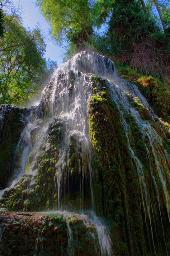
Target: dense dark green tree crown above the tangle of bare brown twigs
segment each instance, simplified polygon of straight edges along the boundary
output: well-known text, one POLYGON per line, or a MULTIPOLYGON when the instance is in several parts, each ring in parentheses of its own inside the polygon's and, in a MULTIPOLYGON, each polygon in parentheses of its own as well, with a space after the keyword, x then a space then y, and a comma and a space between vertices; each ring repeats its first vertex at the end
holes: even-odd
POLYGON ((112 44, 113 53, 126 53, 131 50, 133 43, 139 43, 151 33, 159 31, 151 15, 143 12, 139 1, 119 0, 112 7, 108 37, 117 45, 114 48, 112 44))

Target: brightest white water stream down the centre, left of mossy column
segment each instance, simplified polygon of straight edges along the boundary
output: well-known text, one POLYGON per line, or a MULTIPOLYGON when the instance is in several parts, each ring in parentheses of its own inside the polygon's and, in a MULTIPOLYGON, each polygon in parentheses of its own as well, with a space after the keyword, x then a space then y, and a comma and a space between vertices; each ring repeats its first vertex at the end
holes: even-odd
MULTIPOLYGON (((59 120, 66 124, 66 133, 63 143, 63 147, 60 149, 60 159, 56 163, 56 173, 57 173, 57 187, 58 187, 58 206, 60 208, 60 197, 61 197, 61 180, 64 169, 66 168, 66 163, 69 161, 70 156, 70 143, 72 138, 76 140, 77 152, 82 155, 86 155, 89 158, 90 152, 90 141, 89 141, 89 129, 88 129, 88 99, 91 95, 91 88, 88 86, 87 81, 85 81, 85 76, 78 75, 74 77, 74 88, 72 89, 72 94, 74 95, 74 101, 70 101, 69 94, 69 74, 66 75, 66 86, 65 83, 55 84, 52 93, 52 104, 51 109, 53 112, 54 105, 58 107, 55 110, 56 115, 59 115, 59 120), (59 92, 59 93, 58 93, 59 92), (57 104, 57 103, 60 103, 57 104)), ((85 168, 81 166, 82 176, 86 176, 85 168)), ((83 193, 84 179, 80 181, 81 193, 83 193)))

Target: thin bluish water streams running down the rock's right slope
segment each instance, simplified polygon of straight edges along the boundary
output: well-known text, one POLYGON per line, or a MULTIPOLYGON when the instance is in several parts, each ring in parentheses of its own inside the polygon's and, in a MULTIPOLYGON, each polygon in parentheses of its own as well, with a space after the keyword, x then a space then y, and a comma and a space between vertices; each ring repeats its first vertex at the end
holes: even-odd
MULTIPOLYGON (((113 81, 114 81, 114 79, 113 79, 113 81)), ((131 104, 128 102, 126 91, 127 90, 128 90, 128 92, 130 91, 132 93, 133 97, 137 97, 137 96, 140 97, 140 100, 142 101, 143 105, 147 109, 150 109, 148 107, 148 104, 146 103, 146 100, 143 97, 141 97, 141 94, 140 94, 140 92, 138 92, 137 88, 134 89, 135 85, 133 85, 133 87, 132 87, 132 85, 130 84, 130 87, 127 88, 127 85, 124 86, 124 83, 122 83, 121 80, 119 81, 119 83, 121 83, 121 88, 123 88, 123 90, 120 89, 120 87, 118 87, 116 84, 114 84, 112 82, 112 83, 110 83, 110 92, 111 92, 113 101, 117 104, 117 108, 119 109, 119 111, 121 113, 122 120, 123 120, 123 125, 124 125, 125 131, 126 131, 128 148, 129 148, 129 151, 131 152, 131 157, 134 160, 134 163, 136 165, 136 168, 138 170, 138 174, 139 174, 139 177, 140 177, 141 191, 143 191, 142 194, 143 194, 143 198, 145 199, 145 200, 143 199, 143 210, 144 210, 144 213, 145 213, 145 222, 146 222, 146 227, 147 227, 148 239, 149 239, 149 243, 150 243, 150 249, 151 249, 151 242, 150 242, 150 235, 149 235, 149 227, 148 227, 148 224, 147 224, 147 218, 148 218, 149 223, 150 223, 151 238, 152 238, 152 243, 153 243, 153 247, 154 247, 154 253, 156 255, 155 244, 154 244, 154 234, 153 234, 152 224, 151 224, 150 202, 148 201, 147 189, 146 189, 146 183, 145 183, 145 177, 144 177, 144 172, 145 171, 142 167, 142 164, 141 164, 140 160, 134 155, 133 149, 131 148, 131 145, 130 145, 130 142, 129 142, 129 135, 131 134, 131 131, 130 131, 129 125, 127 124, 127 122, 124 118, 124 115, 126 115, 126 113, 130 113, 134 117, 138 127, 140 128, 140 131, 142 132, 142 138, 143 138, 143 141, 144 141, 144 144, 145 144, 146 152, 148 154, 149 162, 150 162, 151 155, 148 152, 148 148, 147 148, 147 145, 145 143, 146 138, 150 142, 150 145, 151 145, 151 148, 152 148, 152 154, 153 154, 154 159, 155 159, 156 170, 157 170, 157 173, 159 173, 160 181, 161 181, 161 184, 162 184, 162 187, 163 187, 163 190, 164 190, 167 214, 168 214, 168 217, 169 217, 169 209, 170 209, 170 207, 169 207, 169 194, 168 194, 168 191, 167 191, 167 188, 166 188, 166 182, 165 182, 165 178, 164 178, 163 172, 162 172, 162 170, 166 168, 165 171, 166 171, 166 173, 168 173, 168 162, 167 162, 167 165, 165 165, 164 168, 163 168, 163 166, 161 165, 161 159, 164 158, 164 155, 162 155, 162 152, 160 151, 160 148, 163 148, 161 137, 156 133, 156 131, 151 127, 151 125, 147 121, 143 121, 141 119, 138 111, 136 111, 136 110, 134 110, 134 108, 132 108, 131 104)), ((154 115, 153 112, 152 112, 152 115, 154 115)), ((166 155, 165 150, 164 150, 164 153, 166 155)), ((154 175, 152 173, 151 163, 150 163, 150 172, 151 172, 151 175, 154 179, 156 194, 158 195, 157 184, 156 184, 154 175)), ((160 217, 161 217, 159 196, 157 196, 157 200, 158 200, 158 204, 159 204, 160 217)), ((161 217, 161 219, 162 219, 162 217, 161 217)), ((161 224, 162 224, 162 220, 161 220, 161 224)), ((162 225, 162 233, 163 233, 163 236, 164 236, 163 225, 162 225)), ((164 238, 164 241, 165 241, 165 238, 164 238)), ((165 243, 165 247, 166 247, 166 243, 165 243)), ((167 251, 167 249, 166 249, 166 251, 167 251)))

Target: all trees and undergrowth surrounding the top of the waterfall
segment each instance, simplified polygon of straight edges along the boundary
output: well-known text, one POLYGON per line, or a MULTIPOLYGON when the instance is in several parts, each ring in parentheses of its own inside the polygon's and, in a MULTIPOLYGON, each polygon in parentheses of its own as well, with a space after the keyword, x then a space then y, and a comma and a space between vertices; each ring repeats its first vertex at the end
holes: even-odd
MULTIPOLYGON (((63 60, 86 49, 108 56, 138 86, 157 115, 170 116, 169 0, 37 0, 51 37, 67 42, 63 60)), ((57 63, 44 58, 39 27, 25 29, 21 9, 0 6, 0 104, 25 104, 42 90, 57 63)))

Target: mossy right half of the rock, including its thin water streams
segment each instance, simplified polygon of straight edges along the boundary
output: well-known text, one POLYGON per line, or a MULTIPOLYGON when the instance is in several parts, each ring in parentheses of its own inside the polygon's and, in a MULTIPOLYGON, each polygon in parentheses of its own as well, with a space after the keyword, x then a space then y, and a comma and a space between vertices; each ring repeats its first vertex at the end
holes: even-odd
POLYGON ((132 97, 110 85, 95 77, 89 104, 96 211, 114 220, 116 250, 122 241, 115 255, 168 255, 165 132, 157 128, 156 133, 161 121, 140 95, 132 97))

